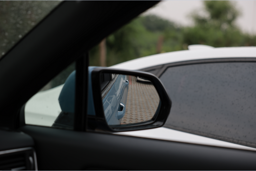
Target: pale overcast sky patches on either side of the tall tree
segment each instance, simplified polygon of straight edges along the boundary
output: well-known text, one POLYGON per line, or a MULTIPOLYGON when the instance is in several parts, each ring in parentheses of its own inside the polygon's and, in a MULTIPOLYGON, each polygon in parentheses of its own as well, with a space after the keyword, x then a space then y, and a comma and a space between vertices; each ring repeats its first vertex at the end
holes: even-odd
MULTIPOLYGON (((256 1, 232 1, 241 12, 237 19, 237 25, 243 32, 256 34, 256 1)), ((162 1, 156 7, 151 8, 145 14, 156 14, 180 25, 191 25, 189 14, 193 11, 203 12, 203 2, 194 0, 162 1)))

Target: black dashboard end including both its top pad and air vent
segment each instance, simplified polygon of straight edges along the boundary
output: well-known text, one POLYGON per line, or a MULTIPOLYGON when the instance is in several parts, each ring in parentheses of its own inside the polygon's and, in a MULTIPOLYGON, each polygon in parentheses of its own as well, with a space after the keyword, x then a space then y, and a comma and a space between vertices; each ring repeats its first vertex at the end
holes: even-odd
POLYGON ((0 137, 0 170, 38 170, 32 137, 8 129, 0 137))

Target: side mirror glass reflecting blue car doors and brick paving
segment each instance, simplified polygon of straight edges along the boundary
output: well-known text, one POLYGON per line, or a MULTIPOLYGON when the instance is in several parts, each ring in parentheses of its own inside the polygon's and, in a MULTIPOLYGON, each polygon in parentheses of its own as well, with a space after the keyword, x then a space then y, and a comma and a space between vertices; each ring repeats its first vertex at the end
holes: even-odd
POLYGON ((100 87, 103 110, 109 125, 146 122, 156 114, 159 96, 147 78, 102 73, 100 87))

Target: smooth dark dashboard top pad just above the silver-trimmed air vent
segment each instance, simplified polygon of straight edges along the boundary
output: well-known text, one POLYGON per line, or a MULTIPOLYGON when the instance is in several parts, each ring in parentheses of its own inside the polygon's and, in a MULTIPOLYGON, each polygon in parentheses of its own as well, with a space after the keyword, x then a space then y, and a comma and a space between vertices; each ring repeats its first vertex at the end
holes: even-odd
POLYGON ((32 137, 23 132, 0 130, 0 137, 0 151, 34 146, 32 137))

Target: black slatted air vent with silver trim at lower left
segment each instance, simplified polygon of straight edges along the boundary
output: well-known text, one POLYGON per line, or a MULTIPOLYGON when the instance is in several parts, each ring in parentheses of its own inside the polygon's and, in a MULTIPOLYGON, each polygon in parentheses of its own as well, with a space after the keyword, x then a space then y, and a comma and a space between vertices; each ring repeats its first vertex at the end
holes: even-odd
POLYGON ((32 148, 0 151, 0 170, 37 170, 32 148))

